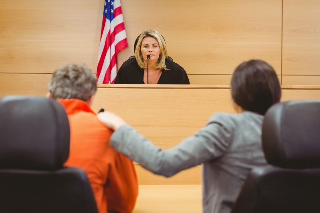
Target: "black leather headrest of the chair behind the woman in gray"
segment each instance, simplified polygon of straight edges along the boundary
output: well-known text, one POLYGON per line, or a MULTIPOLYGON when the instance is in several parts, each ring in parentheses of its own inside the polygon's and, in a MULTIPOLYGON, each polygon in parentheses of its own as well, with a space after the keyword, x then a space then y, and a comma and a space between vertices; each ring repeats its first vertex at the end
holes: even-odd
POLYGON ((272 106, 263 121, 262 146, 269 164, 320 167, 320 101, 289 101, 272 106))

